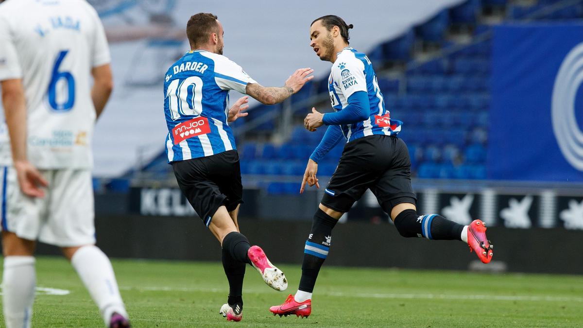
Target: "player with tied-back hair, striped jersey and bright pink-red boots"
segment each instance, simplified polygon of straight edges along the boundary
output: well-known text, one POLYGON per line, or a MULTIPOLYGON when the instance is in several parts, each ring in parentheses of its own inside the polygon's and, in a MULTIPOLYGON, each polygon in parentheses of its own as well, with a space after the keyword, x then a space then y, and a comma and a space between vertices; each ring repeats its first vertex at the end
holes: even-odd
POLYGON ((373 65, 363 53, 349 47, 349 29, 342 18, 322 16, 312 22, 310 46, 321 60, 332 62, 328 90, 334 113, 315 109, 305 117, 310 131, 328 125, 322 141, 308 160, 300 193, 305 183, 319 187, 318 161, 340 140, 346 145, 338 168, 325 189, 314 214, 312 229, 304 247, 300 286, 282 305, 272 306, 273 315, 307 317, 319 270, 328 256, 332 229, 355 201, 370 189, 382 209, 390 215, 403 237, 462 240, 475 250, 482 262, 492 257, 486 227, 480 220, 463 226, 437 214, 419 215, 411 187, 409 152, 396 137, 401 121, 385 109, 373 65))

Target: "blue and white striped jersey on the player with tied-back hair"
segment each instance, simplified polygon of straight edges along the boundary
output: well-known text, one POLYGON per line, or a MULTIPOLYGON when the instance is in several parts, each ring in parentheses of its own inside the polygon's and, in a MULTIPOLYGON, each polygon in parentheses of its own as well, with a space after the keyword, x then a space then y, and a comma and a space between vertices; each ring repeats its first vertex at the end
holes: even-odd
POLYGON ((373 65, 363 53, 346 47, 332 65, 328 78, 330 102, 335 111, 348 106, 348 98, 357 91, 368 93, 370 116, 367 120, 349 125, 340 125, 347 142, 366 135, 396 135, 401 131, 401 121, 391 119, 385 109, 381 89, 378 88, 377 75, 373 65))

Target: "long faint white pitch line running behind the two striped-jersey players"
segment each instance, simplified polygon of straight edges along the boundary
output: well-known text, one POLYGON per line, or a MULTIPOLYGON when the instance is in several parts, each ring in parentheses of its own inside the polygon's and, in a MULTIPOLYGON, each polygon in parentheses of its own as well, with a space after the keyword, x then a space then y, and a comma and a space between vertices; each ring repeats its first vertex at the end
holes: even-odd
MULTIPOLYGON (((122 286, 122 290, 164 291, 164 292, 226 292, 227 289, 219 288, 195 288, 195 287, 129 287, 122 286)), ((269 290, 252 289, 246 292, 250 294, 267 294, 269 290)), ((346 292, 322 292, 324 296, 353 297, 353 298, 385 298, 385 299, 454 299, 454 300, 478 300, 478 301, 529 301, 529 302, 583 302, 583 297, 576 296, 531 296, 531 295, 452 295, 452 294, 366 294, 346 292)))

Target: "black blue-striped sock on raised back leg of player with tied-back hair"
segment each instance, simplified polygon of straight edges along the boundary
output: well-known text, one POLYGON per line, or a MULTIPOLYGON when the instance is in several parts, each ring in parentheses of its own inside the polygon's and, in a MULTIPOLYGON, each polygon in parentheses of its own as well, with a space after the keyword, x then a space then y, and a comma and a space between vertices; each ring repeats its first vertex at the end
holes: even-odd
POLYGON ((462 240, 463 225, 437 214, 419 216, 415 210, 404 210, 395 218, 395 227, 403 237, 462 240))

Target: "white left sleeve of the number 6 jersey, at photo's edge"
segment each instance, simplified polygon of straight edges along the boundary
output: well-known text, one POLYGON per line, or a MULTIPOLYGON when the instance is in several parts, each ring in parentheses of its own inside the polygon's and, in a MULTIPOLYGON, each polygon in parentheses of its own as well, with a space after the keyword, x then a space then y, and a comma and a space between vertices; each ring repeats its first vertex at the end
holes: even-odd
POLYGON ((0 81, 22 78, 16 45, 8 21, 0 15, 0 81))

